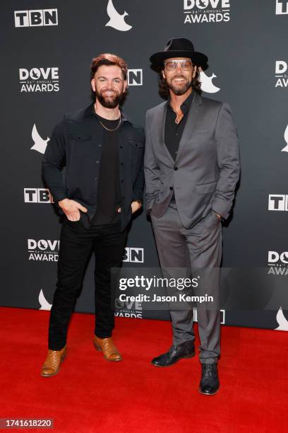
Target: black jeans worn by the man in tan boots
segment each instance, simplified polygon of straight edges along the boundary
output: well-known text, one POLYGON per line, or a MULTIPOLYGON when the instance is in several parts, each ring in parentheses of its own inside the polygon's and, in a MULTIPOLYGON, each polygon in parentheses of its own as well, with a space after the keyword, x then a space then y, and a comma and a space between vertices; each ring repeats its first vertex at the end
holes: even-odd
POLYGON ((92 250, 95 253, 95 335, 112 336, 114 310, 111 299, 111 267, 120 267, 127 231, 120 224, 91 226, 65 220, 61 229, 58 281, 49 320, 48 345, 61 350, 66 345, 68 323, 83 282, 92 250))

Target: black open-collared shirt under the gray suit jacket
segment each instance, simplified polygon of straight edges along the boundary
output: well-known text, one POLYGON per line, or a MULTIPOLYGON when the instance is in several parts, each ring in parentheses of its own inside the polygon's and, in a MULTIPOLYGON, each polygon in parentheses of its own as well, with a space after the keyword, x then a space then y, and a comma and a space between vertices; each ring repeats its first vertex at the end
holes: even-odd
POLYGON ((170 106, 170 101, 167 104, 167 114, 165 121, 165 132, 164 132, 164 143, 169 150, 172 158, 175 160, 177 156, 177 152, 179 149, 179 143, 184 131, 184 127, 186 125, 187 114, 189 108, 191 107, 191 103, 194 97, 194 93, 192 92, 184 103, 181 105, 181 112, 183 112, 184 116, 181 119, 181 122, 178 124, 175 122, 176 112, 170 106))

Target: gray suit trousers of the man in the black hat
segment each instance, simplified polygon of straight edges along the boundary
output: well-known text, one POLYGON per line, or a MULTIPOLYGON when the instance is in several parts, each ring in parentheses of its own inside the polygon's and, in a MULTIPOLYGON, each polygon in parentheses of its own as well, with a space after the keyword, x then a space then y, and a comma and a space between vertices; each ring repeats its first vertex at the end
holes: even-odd
MULTIPOLYGON (((222 225, 215 212, 210 210, 191 229, 186 229, 171 202, 167 212, 160 217, 151 214, 152 227, 162 268, 220 267, 222 257, 222 225)), ((193 272, 191 271, 192 277, 193 272)), ((205 293, 219 300, 219 284, 213 279, 203 287, 205 293), (209 287, 208 287, 209 286, 209 287)), ((200 337, 200 362, 212 364, 220 355, 220 310, 205 303, 196 303, 200 337)), ((173 344, 193 341, 193 310, 170 311, 173 344)))

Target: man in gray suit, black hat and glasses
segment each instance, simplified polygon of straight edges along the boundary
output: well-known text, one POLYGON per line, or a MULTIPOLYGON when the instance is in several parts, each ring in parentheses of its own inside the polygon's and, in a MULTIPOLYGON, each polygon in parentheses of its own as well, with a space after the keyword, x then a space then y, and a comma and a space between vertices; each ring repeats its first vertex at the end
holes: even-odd
MULTIPOLYGON (((227 103, 200 96, 199 70, 208 57, 190 40, 171 39, 150 57, 167 99, 146 115, 145 183, 162 269, 219 268, 222 219, 229 217, 239 180, 236 127, 227 103)), ((208 279, 209 281, 209 279, 208 279)), ((210 278, 205 293, 218 299, 219 284, 210 278)), ((217 393, 220 383, 220 310, 196 304, 202 375, 199 391, 217 393)), ((169 366, 195 355, 193 309, 170 311, 173 345, 152 359, 169 366)))

